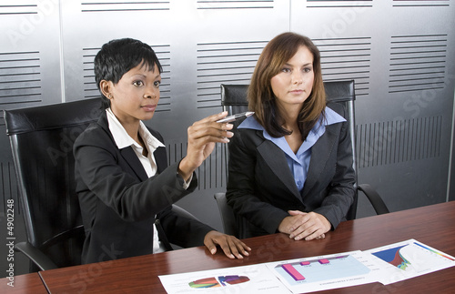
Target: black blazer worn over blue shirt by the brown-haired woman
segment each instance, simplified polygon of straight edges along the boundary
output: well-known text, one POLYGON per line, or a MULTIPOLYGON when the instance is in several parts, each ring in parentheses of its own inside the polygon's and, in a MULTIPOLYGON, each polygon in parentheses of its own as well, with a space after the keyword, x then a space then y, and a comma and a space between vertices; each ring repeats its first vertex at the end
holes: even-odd
MULTIPOLYGON (((342 106, 330 107, 345 117, 342 106)), ((284 152, 262 131, 238 128, 229 143, 227 203, 237 215, 240 238, 276 233, 288 210, 317 212, 337 228, 353 202, 354 183, 347 122, 326 126, 311 147, 301 195, 284 152)))

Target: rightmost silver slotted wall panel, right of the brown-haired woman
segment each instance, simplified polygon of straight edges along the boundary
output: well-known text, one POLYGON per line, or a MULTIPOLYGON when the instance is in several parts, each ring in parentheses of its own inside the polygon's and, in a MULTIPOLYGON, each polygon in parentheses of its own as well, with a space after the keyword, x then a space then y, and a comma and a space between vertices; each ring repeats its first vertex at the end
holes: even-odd
MULTIPOLYGON (((359 182, 376 188, 391 210, 446 201, 454 3, 308 0, 291 6, 290 28, 318 44, 324 79, 356 81, 359 182)), ((360 199, 359 215, 371 214, 360 199)))

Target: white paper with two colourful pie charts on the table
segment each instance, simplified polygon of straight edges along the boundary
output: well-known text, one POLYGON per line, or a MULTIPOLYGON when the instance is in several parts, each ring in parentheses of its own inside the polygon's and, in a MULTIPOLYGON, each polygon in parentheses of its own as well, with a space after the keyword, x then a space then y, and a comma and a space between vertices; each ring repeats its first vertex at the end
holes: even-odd
POLYGON ((265 264, 158 276, 167 293, 290 293, 265 264))

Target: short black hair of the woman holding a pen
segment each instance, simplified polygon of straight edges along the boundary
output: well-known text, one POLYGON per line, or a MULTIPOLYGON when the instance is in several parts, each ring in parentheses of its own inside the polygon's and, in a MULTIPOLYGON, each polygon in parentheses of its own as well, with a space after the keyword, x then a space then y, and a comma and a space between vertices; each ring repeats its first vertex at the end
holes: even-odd
POLYGON ((110 100, 101 92, 100 82, 106 80, 116 84, 126 72, 139 65, 147 66, 152 71, 157 66, 159 73, 163 72, 163 67, 159 63, 155 51, 151 46, 139 40, 116 39, 101 47, 95 56, 95 80, 104 108, 110 106, 110 100))

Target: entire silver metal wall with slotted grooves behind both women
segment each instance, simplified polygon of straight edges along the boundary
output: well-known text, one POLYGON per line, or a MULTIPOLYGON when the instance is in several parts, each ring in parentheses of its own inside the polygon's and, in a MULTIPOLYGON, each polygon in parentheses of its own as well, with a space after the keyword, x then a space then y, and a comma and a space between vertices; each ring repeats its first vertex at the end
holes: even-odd
MULTIPOLYGON (((93 58, 100 46, 137 38, 154 47, 165 70, 147 125, 163 134, 173 163, 186 155, 187 126, 221 110, 219 84, 248 83, 268 40, 291 30, 319 46, 325 80, 356 81, 359 181, 391 210, 428 205, 455 195, 455 184, 448 191, 454 16, 455 0, 5 0, 0 109, 98 96, 93 58)), ((3 220, 5 199, 17 199, 3 113, 0 137, 3 220)), ((197 170, 197 192, 178 203, 218 229, 213 193, 226 188, 226 164, 217 145, 197 170)), ((359 216, 371 214, 360 201, 359 216)), ((26 269, 18 263, 17 274, 26 269)))

